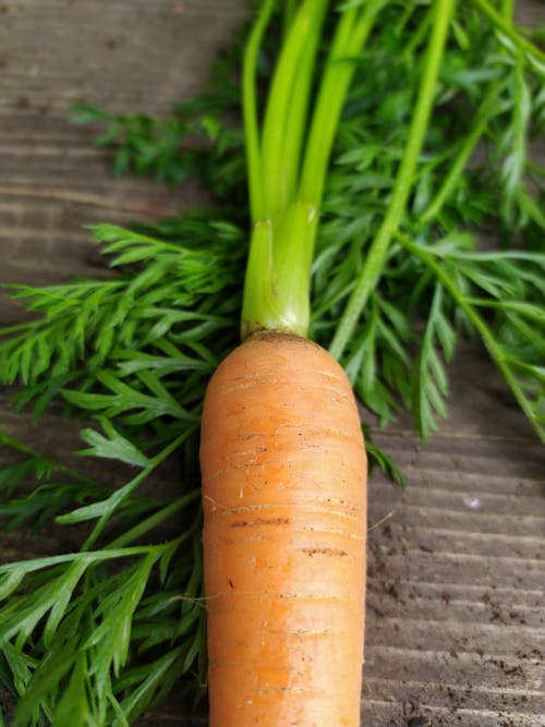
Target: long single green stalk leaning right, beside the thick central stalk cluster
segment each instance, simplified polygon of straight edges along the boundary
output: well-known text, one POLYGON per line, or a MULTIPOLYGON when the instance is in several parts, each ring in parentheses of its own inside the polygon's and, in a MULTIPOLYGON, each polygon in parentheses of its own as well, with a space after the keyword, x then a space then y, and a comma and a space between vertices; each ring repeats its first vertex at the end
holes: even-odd
POLYGON ((409 138, 396 178, 386 217, 370 247, 367 258, 358 276, 354 289, 350 295, 348 305, 342 314, 329 348, 331 354, 337 359, 340 359, 344 352, 360 315, 365 307, 367 299, 378 282, 390 243, 405 211, 409 195, 413 186, 414 172, 432 111, 437 76, 443 60, 453 4, 455 0, 437 0, 435 4, 435 20, 427 48, 419 97, 414 109, 414 117, 409 130, 409 138))

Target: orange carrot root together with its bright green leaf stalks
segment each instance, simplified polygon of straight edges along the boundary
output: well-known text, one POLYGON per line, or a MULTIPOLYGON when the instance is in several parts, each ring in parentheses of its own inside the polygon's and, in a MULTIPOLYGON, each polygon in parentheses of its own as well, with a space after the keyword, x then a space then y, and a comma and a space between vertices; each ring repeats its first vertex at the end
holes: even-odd
MULTIPOLYGON (((342 8, 314 97, 329 3, 287 5, 286 36, 261 109, 258 50, 275 4, 262 4, 244 54, 253 223, 241 314, 245 342, 213 376, 202 423, 209 725, 359 727, 365 447, 347 375, 307 336, 319 208, 354 70, 347 59, 361 54, 382 3, 342 8)), ((422 146, 451 5, 440 0, 435 10, 432 65, 403 179, 412 178, 422 146)), ((363 266, 364 286, 352 291, 359 300, 377 278, 409 191, 403 182, 393 192, 363 266)), ((336 358, 352 332, 351 316, 331 341, 336 358)))

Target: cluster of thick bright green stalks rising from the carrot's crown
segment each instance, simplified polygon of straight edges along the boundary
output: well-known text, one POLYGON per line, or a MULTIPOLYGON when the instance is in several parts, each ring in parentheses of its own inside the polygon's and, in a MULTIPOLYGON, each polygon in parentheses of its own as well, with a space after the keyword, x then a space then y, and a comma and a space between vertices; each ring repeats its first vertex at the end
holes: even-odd
MULTIPOLYGON (((261 149, 255 154, 261 166, 262 177, 257 182, 262 184, 263 206, 262 214, 254 216, 250 244, 241 324, 243 339, 263 329, 298 336, 308 334, 318 206, 335 132, 354 71, 353 62, 343 61, 347 56, 361 52, 380 5, 374 3, 365 12, 352 9, 338 21, 302 165, 312 71, 327 3, 305 2, 293 21, 272 80, 261 149), (296 111, 291 108, 294 92, 296 102, 302 101, 296 111)), ((251 123, 255 118, 256 114, 250 116, 251 123)))

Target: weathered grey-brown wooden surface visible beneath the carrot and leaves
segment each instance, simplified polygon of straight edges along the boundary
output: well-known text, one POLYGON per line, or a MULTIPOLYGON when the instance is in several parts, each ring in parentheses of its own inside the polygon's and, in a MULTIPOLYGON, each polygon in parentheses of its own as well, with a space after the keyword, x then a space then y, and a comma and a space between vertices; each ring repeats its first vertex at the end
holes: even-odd
MULTIPOLYGON (((544 7, 522 12, 535 22, 544 7)), ((104 275, 84 223, 155 219, 198 197, 113 180, 69 106, 166 113, 203 82, 240 17, 235 0, 0 3, 2 282, 104 275)), ((0 323, 19 316, 2 296, 0 323)), ((376 433, 409 486, 371 482, 363 727, 415 726, 417 715, 434 727, 545 725, 545 457, 481 352, 460 352, 453 378, 451 416, 425 449, 408 423, 376 433)), ((0 427, 36 440, 5 402, 0 427)), ((71 435, 48 422, 41 446, 63 447, 71 435)), ((13 559, 58 546, 21 533, 0 547, 13 559)), ((175 710, 140 724, 206 724, 175 710)))

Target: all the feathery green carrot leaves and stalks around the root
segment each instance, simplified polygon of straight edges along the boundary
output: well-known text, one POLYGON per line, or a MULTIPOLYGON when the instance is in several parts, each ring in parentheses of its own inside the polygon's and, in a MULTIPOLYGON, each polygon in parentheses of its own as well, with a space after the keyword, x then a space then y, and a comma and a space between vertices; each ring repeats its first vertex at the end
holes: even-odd
POLYGON ((241 315, 243 336, 329 348, 383 425, 409 410, 424 440, 469 335, 545 438, 543 36, 509 0, 254 4, 171 119, 75 110, 118 173, 198 179, 214 205, 93 228, 111 277, 12 289, 33 315, 0 330, 0 379, 38 419, 62 405, 85 458, 0 436, 4 528, 66 533, 0 566, 14 725, 121 727, 174 683, 202 693, 198 427, 241 315), (169 467, 180 496, 150 496, 169 467))

